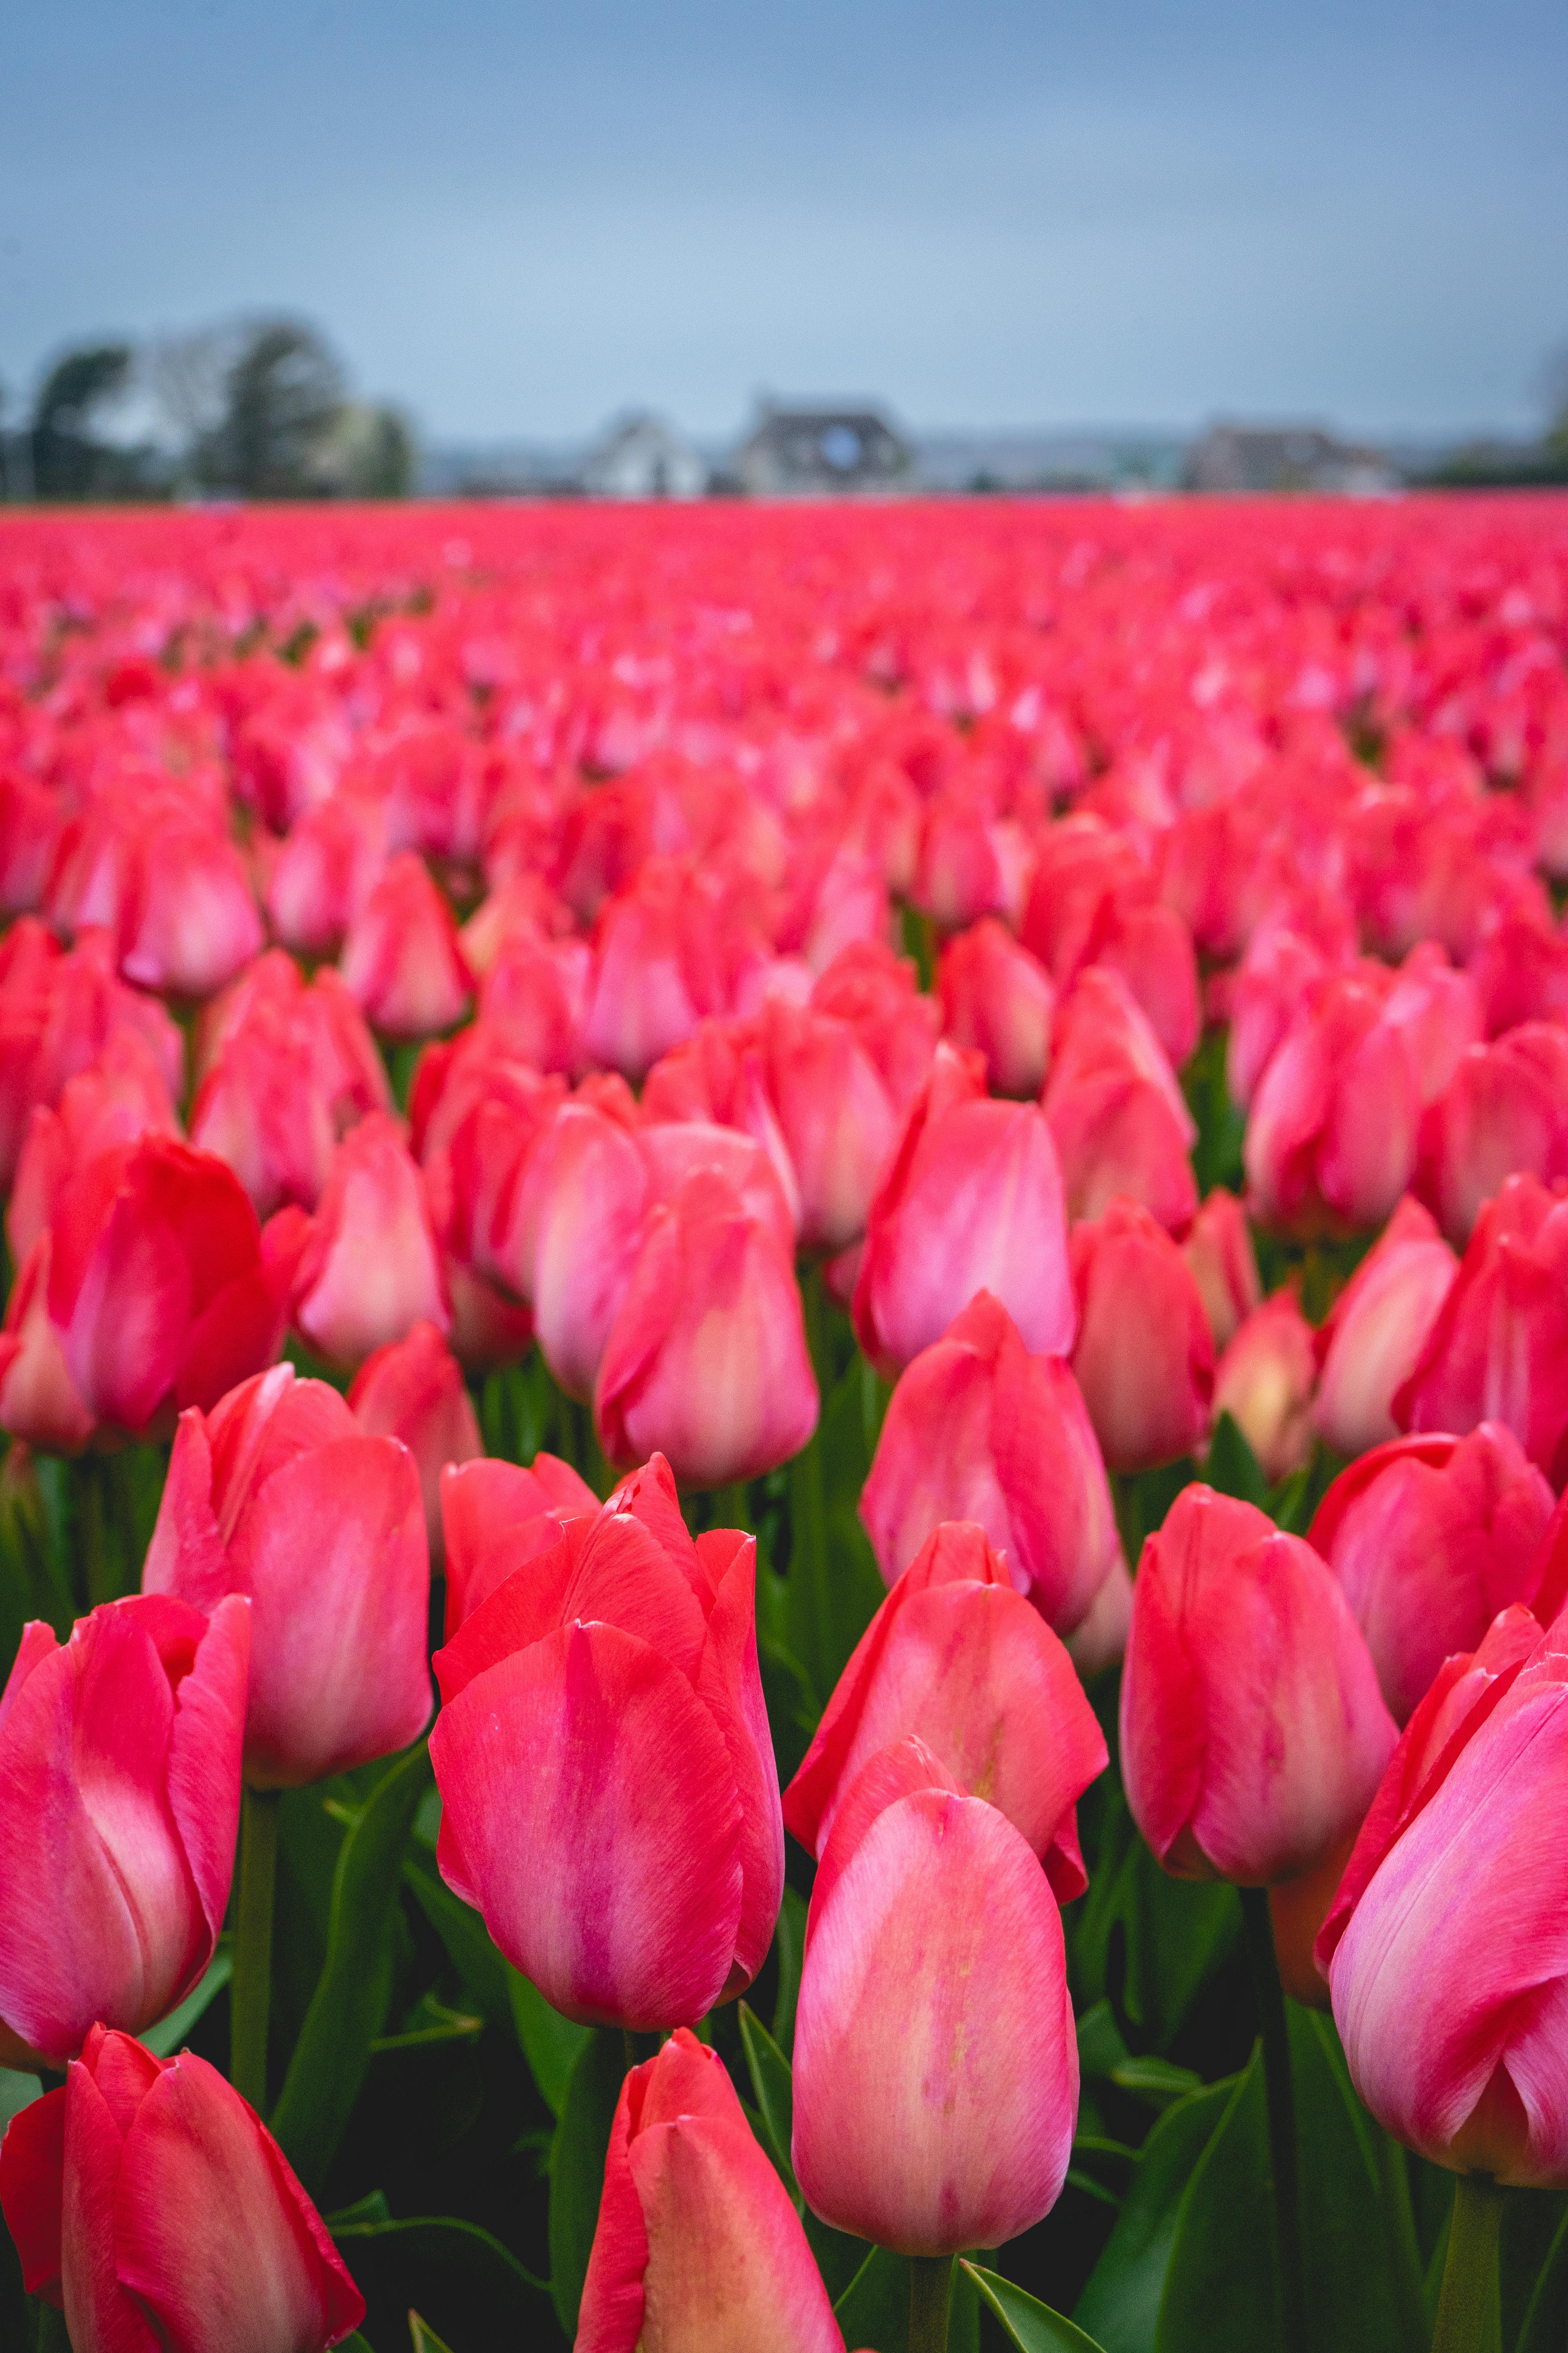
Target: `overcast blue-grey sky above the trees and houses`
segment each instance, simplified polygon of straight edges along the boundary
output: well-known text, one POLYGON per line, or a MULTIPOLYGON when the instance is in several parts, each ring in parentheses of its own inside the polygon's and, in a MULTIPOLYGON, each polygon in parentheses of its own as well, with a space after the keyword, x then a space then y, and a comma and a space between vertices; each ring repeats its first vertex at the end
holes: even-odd
POLYGON ((0 381, 315 318, 433 440, 1540 424, 1563 0, 49 0, 0 38, 0 381))

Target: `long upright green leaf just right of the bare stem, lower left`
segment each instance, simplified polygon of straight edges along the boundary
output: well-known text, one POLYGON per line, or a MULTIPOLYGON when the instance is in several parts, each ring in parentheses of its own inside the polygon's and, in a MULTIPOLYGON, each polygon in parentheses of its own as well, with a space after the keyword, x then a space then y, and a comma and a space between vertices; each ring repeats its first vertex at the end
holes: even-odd
POLYGON ((320 2188, 343 2139, 386 2012, 402 1852, 428 1781, 421 1741, 376 1784, 339 1854, 327 1960, 273 2111, 273 2132, 308 2191, 320 2188))

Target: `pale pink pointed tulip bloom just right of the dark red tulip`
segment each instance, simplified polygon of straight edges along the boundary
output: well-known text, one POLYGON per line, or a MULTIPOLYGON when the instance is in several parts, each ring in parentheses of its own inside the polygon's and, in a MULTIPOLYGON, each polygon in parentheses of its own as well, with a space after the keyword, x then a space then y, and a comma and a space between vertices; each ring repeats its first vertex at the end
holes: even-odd
POLYGON ((350 1369, 416 1322, 447 1332, 440 1252, 402 1125, 376 1111, 334 1153, 294 1280, 294 1325, 350 1369))

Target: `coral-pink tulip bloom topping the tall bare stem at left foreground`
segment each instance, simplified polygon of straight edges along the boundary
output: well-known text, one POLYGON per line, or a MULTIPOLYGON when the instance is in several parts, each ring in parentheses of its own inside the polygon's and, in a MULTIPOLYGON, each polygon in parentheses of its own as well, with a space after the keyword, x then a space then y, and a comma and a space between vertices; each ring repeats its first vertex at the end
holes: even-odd
POLYGON ((430 1718, 430 1560, 414 1457, 275 1365, 181 1414, 143 1593, 252 1605, 244 1779, 296 1788, 407 1748, 430 1718))

